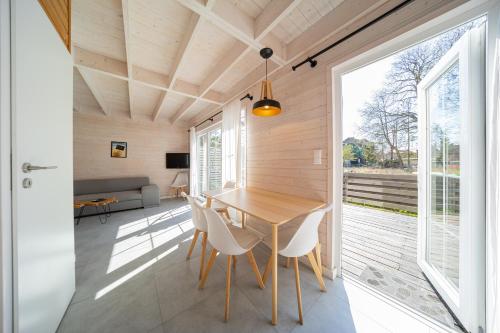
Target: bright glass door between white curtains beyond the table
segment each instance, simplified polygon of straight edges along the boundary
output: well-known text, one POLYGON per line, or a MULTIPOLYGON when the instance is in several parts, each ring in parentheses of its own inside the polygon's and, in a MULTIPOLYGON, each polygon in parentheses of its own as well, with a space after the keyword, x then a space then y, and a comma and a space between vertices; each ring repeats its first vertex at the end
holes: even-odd
POLYGON ((222 130, 212 127, 198 135, 198 189, 200 193, 222 187, 222 130))

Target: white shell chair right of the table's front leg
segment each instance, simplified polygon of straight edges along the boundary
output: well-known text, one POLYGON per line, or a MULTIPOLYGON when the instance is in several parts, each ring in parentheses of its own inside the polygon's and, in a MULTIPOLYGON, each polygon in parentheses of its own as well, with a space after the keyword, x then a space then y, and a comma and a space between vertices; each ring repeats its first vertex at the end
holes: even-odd
MULTIPOLYGON (((311 263, 316 279, 319 282, 321 291, 326 291, 325 282, 323 281, 321 271, 321 251, 318 227, 325 214, 332 209, 333 205, 326 208, 315 210, 304 217, 300 226, 288 227, 279 230, 278 232, 278 254, 286 258, 294 258, 295 268, 295 287, 297 289, 297 305, 299 310, 299 322, 303 324, 302 318, 302 293, 300 290, 299 276, 299 257, 307 255, 311 263), (314 258, 313 250, 316 249, 316 259, 314 258)), ((272 239, 270 236, 264 238, 264 243, 270 247, 272 239)), ((272 257, 269 258, 266 269, 264 271, 263 282, 266 283, 267 277, 271 271, 272 257)))

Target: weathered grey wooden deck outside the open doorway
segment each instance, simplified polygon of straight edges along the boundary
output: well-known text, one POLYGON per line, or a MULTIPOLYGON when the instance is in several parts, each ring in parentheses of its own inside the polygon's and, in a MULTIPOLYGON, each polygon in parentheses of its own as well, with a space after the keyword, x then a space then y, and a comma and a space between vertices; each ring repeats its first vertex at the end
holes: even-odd
POLYGON ((453 327, 417 265, 417 218, 344 203, 342 274, 453 327))

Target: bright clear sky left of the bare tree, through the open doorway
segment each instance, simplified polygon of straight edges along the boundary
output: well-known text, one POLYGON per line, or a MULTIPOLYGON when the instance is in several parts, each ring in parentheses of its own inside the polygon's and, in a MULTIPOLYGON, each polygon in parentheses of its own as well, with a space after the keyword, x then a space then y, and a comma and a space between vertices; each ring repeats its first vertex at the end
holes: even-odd
POLYGON ((343 139, 351 136, 361 138, 358 110, 383 86, 394 57, 378 60, 342 76, 343 139))

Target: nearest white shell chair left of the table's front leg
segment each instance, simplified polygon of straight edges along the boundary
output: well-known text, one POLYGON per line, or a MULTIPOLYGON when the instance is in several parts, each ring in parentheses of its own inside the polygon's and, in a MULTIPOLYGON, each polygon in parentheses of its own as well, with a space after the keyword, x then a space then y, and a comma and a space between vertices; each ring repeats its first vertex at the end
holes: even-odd
POLYGON ((224 221, 224 217, 214 209, 205 208, 203 212, 208 224, 208 241, 213 246, 213 249, 210 253, 210 258, 208 259, 199 288, 203 289, 217 253, 220 252, 227 255, 226 303, 224 306, 224 320, 227 321, 229 319, 229 295, 231 291, 231 259, 235 259, 235 256, 246 253, 259 287, 261 289, 264 288, 264 283, 262 282, 262 277, 252 252, 252 249, 260 243, 261 239, 253 232, 235 227, 232 224, 227 224, 224 221))

